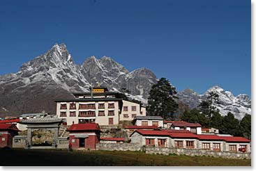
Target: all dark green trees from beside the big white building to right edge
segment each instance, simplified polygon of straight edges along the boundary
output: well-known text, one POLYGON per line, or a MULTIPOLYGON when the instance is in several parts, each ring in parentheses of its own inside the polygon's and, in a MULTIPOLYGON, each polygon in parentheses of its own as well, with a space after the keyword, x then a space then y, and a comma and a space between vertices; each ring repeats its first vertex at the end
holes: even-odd
MULTIPOLYGON (((149 92, 148 106, 146 111, 149 115, 158 115, 165 120, 175 120, 177 112, 178 97, 176 88, 165 78, 161 78, 154 84, 149 92)), ((201 101, 198 108, 184 111, 180 120, 199 123, 202 127, 213 127, 219 129, 220 133, 228 133, 232 136, 244 136, 251 138, 251 115, 245 115, 241 121, 234 114, 220 115, 214 103, 218 104, 218 94, 209 92, 206 99, 201 101)))

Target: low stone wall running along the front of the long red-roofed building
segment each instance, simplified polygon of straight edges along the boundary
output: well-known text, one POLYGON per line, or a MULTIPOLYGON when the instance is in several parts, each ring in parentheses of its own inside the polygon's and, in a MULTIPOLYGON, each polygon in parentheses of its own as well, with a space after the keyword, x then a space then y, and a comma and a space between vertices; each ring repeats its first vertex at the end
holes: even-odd
POLYGON ((146 147, 146 154, 177 154, 187 156, 213 156, 223 158, 246 158, 250 159, 250 153, 232 153, 232 152, 213 152, 204 149, 176 149, 176 148, 160 148, 160 147, 146 147))

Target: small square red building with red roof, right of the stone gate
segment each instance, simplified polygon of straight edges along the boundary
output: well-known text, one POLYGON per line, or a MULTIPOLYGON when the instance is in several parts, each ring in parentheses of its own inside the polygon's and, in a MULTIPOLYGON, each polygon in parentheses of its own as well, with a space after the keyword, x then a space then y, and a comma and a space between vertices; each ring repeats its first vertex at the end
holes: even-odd
POLYGON ((72 149, 96 149, 100 142, 100 127, 98 124, 72 124, 69 131, 69 146, 72 149))

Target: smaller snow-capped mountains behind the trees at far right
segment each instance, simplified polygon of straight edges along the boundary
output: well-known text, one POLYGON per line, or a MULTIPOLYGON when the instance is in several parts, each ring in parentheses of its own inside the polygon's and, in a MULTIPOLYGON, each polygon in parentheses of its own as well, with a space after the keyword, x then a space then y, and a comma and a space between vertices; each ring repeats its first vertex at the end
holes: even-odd
POLYGON ((234 97, 232 92, 225 91, 219 86, 209 88, 203 95, 199 95, 191 89, 186 89, 179 92, 178 97, 179 100, 190 106, 190 108, 197 108, 199 103, 206 99, 209 92, 216 92, 216 94, 219 95, 219 101, 218 103, 216 102, 214 106, 220 110, 220 114, 227 115, 227 113, 231 112, 239 120, 246 114, 251 115, 251 100, 248 95, 241 94, 234 97))

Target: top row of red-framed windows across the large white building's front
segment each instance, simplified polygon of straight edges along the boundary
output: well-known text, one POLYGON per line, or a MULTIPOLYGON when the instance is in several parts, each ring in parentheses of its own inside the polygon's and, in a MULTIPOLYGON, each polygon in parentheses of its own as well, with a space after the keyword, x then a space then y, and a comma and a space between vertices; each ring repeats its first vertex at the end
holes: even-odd
MULTIPOLYGON (((76 109, 75 103, 70 103, 69 108, 76 109)), ((95 109, 95 108, 96 108, 95 104, 79 104, 79 109, 95 109)), ((105 104, 98 104, 98 108, 105 108, 105 104)), ((108 104, 108 108, 114 108, 114 104, 108 104)), ((61 109, 67 109, 67 104, 61 104, 61 109)))

